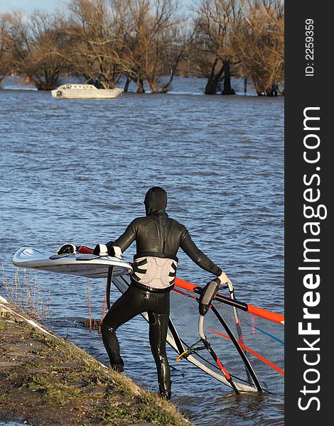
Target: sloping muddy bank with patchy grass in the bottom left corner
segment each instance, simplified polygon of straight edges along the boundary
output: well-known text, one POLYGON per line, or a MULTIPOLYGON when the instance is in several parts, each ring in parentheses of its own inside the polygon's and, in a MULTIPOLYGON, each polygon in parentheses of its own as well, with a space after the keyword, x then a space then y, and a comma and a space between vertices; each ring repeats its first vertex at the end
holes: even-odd
POLYGON ((192 425, 171 403, 0 300, 0 422, 14 421, 192 425))

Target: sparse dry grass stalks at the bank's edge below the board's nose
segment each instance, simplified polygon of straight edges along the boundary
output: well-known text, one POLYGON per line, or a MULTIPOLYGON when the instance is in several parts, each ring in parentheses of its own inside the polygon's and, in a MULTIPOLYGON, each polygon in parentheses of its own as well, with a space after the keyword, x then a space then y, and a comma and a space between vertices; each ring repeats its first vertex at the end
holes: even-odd
POLYGON ((16 268, 12 279, 8 278, 2 263, 2 280, 6 299, 14 303, 22 312, 36 320, 48 317, 50 295, 48 300, 42 294, 42 286, 37 283, 37 278, 31 277, 30 271, 16 268))

